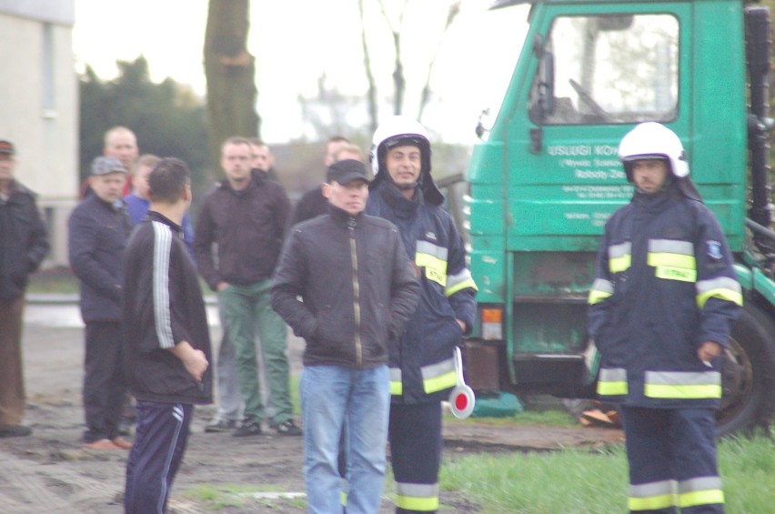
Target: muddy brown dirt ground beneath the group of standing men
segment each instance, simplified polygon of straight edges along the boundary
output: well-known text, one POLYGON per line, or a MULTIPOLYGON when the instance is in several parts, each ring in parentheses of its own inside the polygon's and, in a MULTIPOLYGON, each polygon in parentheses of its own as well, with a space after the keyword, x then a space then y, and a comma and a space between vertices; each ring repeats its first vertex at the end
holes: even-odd
MULTIPOLYGON (((62 308, 28 305, 25 315, 25 378, 28 438, 0 439, 0 512, 123 512, 126 452, 85 450, 81 384, 83 328, 62 308), (61 319, 60 319, 61 317, 61 319)), ((79 321, 79 320, 78 320, 79 321)), ((212 329, 214 342, 219 328, 212 329)), ((298 372, 302 342, 289 339, 298 372)), ((196 409, 182 469, 169 512, 305 512, 301 438, 272 430, 255 438, 205 434, 213 406, 196 409)), ((619 430, 606 428, 495 427, 445 419, 445 458, 474 451, 518 452, 618 443, 619 430)), ((393 512, 388 486, 380 513, 393 512)), ((442 492, 444 512, 474 513, 481 506, 442 492)))

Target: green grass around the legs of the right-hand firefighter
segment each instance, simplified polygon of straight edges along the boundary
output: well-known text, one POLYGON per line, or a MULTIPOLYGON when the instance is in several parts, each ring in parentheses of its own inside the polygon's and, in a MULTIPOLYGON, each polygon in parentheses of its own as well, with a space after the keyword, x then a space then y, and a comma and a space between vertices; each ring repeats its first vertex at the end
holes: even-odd
MULTIPOLYGON (((775 428, 719 442, 726 509, 771 512, 775 502, 775 428)), ((484 514, 600 514, 626 510, 623 447, 445 459, 441 488, 478 503, 484 514)))

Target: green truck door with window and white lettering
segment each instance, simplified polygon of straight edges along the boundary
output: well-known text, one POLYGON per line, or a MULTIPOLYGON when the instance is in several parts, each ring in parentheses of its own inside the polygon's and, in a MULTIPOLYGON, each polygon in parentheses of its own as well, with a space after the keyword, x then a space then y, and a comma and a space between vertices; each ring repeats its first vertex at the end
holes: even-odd
MULTIPOLYGON (((688 69, 689 52, 679 52, 679 19, 689 18, 659 8, 568 11, 565 5, 563 15, 542 21, 524 125, 510 126, 527 150, 507 158, 508 247, 515 249, 597 249, 606 219, 632 195, 617 155, 621 136, 642 121, 688 134, 679 70, 688 69)), ((515 149, 513 139, 508 147, 515 149)))

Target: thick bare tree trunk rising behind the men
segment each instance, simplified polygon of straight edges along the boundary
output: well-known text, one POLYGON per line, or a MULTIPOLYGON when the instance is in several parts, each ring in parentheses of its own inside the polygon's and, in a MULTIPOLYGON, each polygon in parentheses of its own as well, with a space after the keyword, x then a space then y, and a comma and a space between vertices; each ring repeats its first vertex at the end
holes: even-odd
POLYGON ((210 149, 215 158, 227 137, 260 134, 256 62, 247 52, 249 10, 249 0, 209 0, 204 54, 210 149))

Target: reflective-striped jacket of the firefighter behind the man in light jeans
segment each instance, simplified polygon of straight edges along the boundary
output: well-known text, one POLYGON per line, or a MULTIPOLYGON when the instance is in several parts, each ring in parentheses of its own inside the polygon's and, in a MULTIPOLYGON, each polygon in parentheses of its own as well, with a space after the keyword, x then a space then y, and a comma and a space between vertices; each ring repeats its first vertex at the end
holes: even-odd
POLYGON ((368 197, 367 214, 398 227, 409 259, 420 275, 418 308, 407 331, 390 345, 390 393, 407 404, 446 399, 457 385, 453 348, 471 330, 477 286, 466 266, 463 239, 448 212, 423 201, 417 190, 408 200, 387 181, 368 197))

